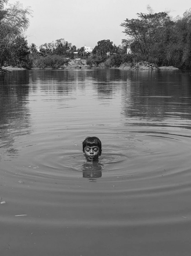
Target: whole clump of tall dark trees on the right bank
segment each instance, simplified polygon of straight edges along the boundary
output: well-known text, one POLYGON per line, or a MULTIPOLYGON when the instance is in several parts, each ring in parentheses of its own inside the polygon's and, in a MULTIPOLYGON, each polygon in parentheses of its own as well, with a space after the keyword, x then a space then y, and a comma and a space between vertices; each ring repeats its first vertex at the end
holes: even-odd
POLYGON ((191 9, 175 19, 166 12, 148 9, 149 14, 137 14, 137 19, 126 19, 121 24, 132 53, 137 60, 190 70, 191 9))

